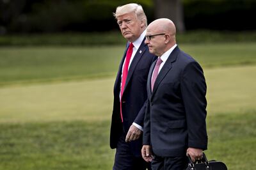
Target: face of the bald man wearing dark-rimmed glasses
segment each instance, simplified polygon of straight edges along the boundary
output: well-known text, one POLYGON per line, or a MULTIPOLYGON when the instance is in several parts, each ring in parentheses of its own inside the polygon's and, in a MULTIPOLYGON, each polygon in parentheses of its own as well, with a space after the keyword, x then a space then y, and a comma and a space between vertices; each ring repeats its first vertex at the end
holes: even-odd
POLYGON ((164 33, 160 33, 154 27, 148 26, 145 43, 148 45, 150 53, 156 56, 161 56, 164 53, 164 35, 164 33))

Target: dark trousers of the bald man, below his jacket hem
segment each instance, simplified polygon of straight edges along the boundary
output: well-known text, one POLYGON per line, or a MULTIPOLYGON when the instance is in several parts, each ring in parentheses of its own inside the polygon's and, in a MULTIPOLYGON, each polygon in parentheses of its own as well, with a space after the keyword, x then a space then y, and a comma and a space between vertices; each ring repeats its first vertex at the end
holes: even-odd
POLYGON ((158 157, 154 155, 152 170, 184 170, 188 167, 188 157, 158 157))

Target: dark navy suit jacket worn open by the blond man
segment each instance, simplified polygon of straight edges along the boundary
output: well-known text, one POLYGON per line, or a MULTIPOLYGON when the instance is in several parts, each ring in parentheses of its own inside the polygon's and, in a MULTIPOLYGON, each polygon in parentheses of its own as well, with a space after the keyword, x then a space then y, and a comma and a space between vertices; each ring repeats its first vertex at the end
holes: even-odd
MULTIPOLYGON (((145 101, 147 100, 148 71, 156 56, 148 52, 147 45, 143 42, 137 50, 129 67, 124 93, 122 95, 122 114, 124 122, 120 118, 120 83, 122 66, 126 56, 128 45, 119 66, 114 86, 114 104, 111 121, 110 146, 116 148, 117 141, 123 132, 128 132, 133 122, 143 127, 145 116, 145 101)), ((141 155, 142 137, 131 142, 131 148, 135 155, 141 155)))

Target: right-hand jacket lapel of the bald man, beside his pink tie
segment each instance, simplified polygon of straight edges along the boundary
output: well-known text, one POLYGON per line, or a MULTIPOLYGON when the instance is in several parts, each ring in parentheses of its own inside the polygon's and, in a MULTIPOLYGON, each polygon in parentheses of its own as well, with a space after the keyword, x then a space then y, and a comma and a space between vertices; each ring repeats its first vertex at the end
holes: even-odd
MULTIPOLYGON (((168 57, 168 59, 164 63, 163 68, 160 70, 159 74, 157 75, 156 82, 154 84, 154 88, 153 88, 153 91, 152 91, 151 98, 156 93, 156 89, 158 88, 158 86, 161 83, 161 81, 163 81, 165 75, 171 70, 172 63, 176 61, 177 56, 179 54, 179 51, 180 51, 179 47, 175 47, 175 49, 173 49, 172 53, 170 54, 170 56, 168 57)), ((151 82, 151 79, 150 79, 150 82, 151 82)))

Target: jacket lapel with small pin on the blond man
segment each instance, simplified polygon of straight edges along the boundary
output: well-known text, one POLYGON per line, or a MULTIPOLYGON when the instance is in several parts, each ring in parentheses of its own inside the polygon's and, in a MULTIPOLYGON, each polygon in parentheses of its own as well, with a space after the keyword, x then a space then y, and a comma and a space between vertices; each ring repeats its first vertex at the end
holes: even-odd
POLYGON ((132 59, 132 63, 129 67, 129 71, 128 71, 128 75, 127 75, 127 79, 125 81, 125 87, 124 87, 124 91, 125 91, 125 88, 127 87, 127 84, 129 83, 129 81, 131 80, 131 77, 132 77, 132 74, 136 68, 136 66, 138 65, 140 59, 141 59, 141 56, 143 56, 145 50, 146 50, 146 47, 145 47, 145 43, 144 43, 144 40, 143 42, 141 43, 139 49, 137 50, 134 58, 132 59))

